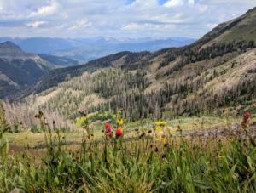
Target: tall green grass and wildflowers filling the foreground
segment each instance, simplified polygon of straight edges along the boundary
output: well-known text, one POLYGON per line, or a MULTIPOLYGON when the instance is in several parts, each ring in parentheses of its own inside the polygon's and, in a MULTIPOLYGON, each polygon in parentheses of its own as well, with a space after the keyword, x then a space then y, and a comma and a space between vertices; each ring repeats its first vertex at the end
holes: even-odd
MULTIPOLYGON (((220 138, 171 137, 164 140, 139 132, 125 140, 123 133, 101 142, 88 133, 83 118, 81 143, 63 146, 59 129, 53 132, 38 113, 46 146, 33 153, 9 149, 0 135, 0 191, 9 192, 255 192, 255 128, 244 116, 238 133, 220 138)), ((114 127, 122 127, 117 116, 114 127)), ((165 122, 156 122, 163 127, 165 122)), ((110 126, 105 125, 107 128, 110 126)), ((155 128, 158 130, 159 128, 155 128)), ((116 129, 118 130, 118 129, 116 129)), ((36 151, 36 150, 35 150, 36 151)))

